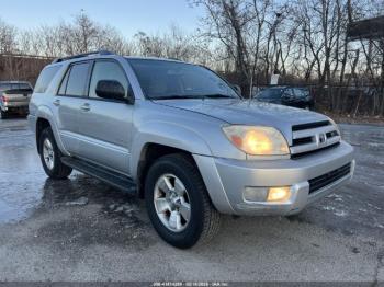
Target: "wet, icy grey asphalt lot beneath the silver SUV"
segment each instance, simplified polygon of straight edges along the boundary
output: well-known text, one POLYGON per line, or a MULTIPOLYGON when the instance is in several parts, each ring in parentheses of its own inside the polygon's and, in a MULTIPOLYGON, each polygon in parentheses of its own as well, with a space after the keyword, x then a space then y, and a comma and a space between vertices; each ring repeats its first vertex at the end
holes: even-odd
POLYGON ((143 203, 74 173, 47 180, 24 119, 0 120, 0 280, 384 280, 384 128, 341 125, 351 184, 300 216, 225 217, 180 251, 143 203))

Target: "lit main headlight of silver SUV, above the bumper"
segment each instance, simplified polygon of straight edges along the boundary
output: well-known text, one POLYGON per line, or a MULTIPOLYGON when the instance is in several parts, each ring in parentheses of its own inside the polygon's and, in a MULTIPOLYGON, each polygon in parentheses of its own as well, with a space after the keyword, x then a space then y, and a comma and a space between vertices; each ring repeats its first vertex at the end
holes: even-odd
POLYGON ((251 156, 283 156, 290 149, 285 138, 273 127, 225 126, 224 134, 240 150, 251 156))

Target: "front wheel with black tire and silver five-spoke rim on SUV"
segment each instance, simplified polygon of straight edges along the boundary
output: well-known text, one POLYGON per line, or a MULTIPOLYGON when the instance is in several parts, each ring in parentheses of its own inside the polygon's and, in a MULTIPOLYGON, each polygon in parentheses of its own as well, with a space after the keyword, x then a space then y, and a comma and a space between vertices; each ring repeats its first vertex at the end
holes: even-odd
POLYGON ((188 156, 165 156, 150 167, 145 181, 145 200, 156 231, 176 248, 205 243, 219 229, 219 214, 188 156))

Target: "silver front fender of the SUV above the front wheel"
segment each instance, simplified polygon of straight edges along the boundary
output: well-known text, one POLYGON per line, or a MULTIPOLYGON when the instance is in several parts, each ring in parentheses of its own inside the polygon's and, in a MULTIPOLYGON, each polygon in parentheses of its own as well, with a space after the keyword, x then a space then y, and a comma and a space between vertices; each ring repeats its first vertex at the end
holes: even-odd
POLYGON ((225 122, 194 112, 136 101, 132 140, 131 174, 137 175, 137 165, 147 144, 178 148, 192 154, 246 159, 222 131, 225 122))

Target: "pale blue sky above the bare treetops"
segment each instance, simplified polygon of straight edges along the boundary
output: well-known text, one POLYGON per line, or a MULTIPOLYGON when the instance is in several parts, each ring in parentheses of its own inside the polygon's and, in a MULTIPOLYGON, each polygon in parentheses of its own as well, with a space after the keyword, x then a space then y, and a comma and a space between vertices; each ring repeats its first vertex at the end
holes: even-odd
POLYGON ((94 21, 116 27, 124 36, 138 31, 161 33, 177 24, 192 32, 204 14, 187 0, 0 0, 0 19, 19 28, 69 22, 81 10, 94 21))

